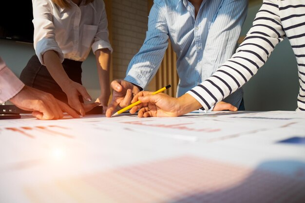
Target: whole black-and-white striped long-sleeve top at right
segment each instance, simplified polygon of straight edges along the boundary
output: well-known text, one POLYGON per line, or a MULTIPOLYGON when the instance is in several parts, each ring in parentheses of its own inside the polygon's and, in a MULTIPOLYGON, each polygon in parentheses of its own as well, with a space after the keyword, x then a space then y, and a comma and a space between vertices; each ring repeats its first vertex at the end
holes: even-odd
POLYGON ((256 74, 285 37, 298 63, 298 109, 305 111, 305 0, 263 0, 252 28, 236 53, 210 78, 187 93, 204 109, 210 109, 256 74))

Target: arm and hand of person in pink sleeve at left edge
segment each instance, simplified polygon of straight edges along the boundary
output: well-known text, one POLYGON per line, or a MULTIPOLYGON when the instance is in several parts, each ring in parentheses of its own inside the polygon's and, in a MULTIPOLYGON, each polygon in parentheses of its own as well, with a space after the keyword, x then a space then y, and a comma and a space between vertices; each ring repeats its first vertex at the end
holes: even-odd
MULTIPOLYGON (((79 118, 74 110, 52 94, 24 85, 0 57, 0 103, 8 100, 20 109, 33 111, 33 116, 41 120, 60 119, 63 111, 79 118)), ((93 107, 97 105, 92 104, 93 107)))

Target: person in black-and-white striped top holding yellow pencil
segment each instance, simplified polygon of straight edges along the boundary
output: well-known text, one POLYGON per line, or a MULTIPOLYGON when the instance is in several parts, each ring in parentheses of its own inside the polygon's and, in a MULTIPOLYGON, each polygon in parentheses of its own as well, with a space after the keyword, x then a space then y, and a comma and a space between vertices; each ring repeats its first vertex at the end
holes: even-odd
POLYGON ((252 28, 236 53, 210 78, 179 98, 164 93, 139 92, 132 102, 139 117, 180 116, 199 108, 210 109, 242 87, 267 61, 275 46, 287 37, 299 70, 297 111, 305 111, 305 0, 263 0, 252 28), (144 95, 144 97, 143 97, 144 95))

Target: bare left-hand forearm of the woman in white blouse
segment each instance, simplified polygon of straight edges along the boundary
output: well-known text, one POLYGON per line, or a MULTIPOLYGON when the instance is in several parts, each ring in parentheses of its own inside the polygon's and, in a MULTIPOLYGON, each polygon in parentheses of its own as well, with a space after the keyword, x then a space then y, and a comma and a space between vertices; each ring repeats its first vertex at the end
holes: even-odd
POLYGON ((45 52, 43 54, 43 61, 47 70, 61 89, 66 87, 71 80, 63 69, 57 53, 52 50, 45 52))

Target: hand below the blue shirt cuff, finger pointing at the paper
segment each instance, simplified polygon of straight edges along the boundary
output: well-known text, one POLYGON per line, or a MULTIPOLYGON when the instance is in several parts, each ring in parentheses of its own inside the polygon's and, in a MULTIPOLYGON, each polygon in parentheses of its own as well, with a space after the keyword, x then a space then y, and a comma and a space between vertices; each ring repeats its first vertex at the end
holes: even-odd
POLYGON ((106 111, 106 117, 111 117, 114 109, 118 106, 120 108, 127 107, 131 104, 133 95, 140 92, 140 90, 132 83, 126 80, 114 80, 111 82, 113 89, 113 96, 106 111))

